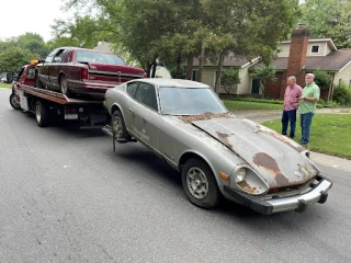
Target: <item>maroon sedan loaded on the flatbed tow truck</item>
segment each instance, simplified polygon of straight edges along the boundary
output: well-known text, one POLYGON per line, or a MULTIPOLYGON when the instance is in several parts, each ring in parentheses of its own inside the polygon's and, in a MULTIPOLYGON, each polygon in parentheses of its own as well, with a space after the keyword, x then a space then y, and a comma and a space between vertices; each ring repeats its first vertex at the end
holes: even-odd
POLYGON ((59 47, 36 65, 36 87, 103 99, 107 89, 132 79, 145 78, 140 68, 128 67, 112 53, 59 47))

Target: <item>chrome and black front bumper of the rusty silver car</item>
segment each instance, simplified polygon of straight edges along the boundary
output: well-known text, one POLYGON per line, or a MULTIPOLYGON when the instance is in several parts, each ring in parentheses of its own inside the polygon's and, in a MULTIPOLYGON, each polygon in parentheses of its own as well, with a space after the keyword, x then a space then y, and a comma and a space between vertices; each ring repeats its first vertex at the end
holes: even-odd
POLYGON ((321 176, 317 176, 316 180, 319 181, 319 183, 310 183, 310 190, 308 192, 288 197, 272 196, 272 198, 263 199, 262 196, 253 196, 238 192, 226 185, 224 186, 224 191, 238 203, 263 215, 286 210, 296 210, 302 213, 306 210, 308 205, 315 203, 322 204, 327 201, 328 191, 332 185, 331 181, 321 176))

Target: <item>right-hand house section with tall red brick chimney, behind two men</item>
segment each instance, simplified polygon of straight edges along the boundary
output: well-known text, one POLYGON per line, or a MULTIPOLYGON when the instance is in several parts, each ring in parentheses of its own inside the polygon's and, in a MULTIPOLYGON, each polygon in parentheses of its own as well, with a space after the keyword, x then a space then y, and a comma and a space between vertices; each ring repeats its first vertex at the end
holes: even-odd
MULTIPOLYGON (((260 66, 260 65, 257 65, 260 66)), ((256 66, 256 67, 257 67, 256 66)), ((272 62, 276 68, 276 81, 269 83, 265 96, 283 99, 286 78, 294 75, 303 85, 304 76, 317 68, 326 70, 332 78, 330 89, 321 90, 321 98, 328 98, 339 81, 351 84, 351 49, 337 49, 331 38, 309 39, 309 32, 299 26, 292 33, 292 39, 280 44, 278 58, 272 62)))

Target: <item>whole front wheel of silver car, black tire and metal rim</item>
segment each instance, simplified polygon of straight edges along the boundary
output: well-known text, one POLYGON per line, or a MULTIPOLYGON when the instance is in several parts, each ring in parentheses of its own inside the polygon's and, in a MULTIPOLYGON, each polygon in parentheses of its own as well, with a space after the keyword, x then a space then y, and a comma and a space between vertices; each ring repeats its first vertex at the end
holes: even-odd
POLYGON ((213 172, 201 159, 194 158, 186 161, 182 170, 182 184, 188 198, 196 206, 212 208, 220 201, 213 172))

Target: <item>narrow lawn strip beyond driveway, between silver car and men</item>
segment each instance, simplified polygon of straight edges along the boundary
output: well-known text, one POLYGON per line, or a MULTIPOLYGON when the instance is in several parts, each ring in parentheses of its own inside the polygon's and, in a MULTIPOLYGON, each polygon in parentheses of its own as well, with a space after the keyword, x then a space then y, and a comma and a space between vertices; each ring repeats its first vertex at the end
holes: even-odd
POLYGON ((246 111, 246 110, 282 110, 283 103, 268 102, 260 100, 223 100, 229 111, 246 111))

